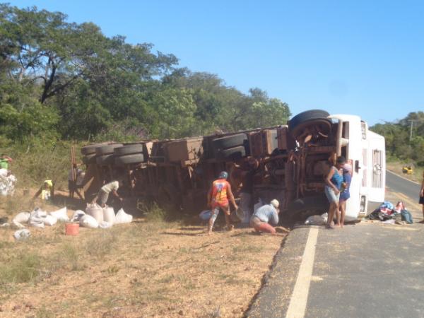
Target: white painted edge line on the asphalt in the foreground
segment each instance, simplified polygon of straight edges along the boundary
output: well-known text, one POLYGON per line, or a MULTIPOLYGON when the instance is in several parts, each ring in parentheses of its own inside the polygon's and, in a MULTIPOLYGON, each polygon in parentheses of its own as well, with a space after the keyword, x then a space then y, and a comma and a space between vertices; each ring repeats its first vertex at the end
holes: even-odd
POLYGON ((305 251, 300 263, 298 278, 288 305, 286 318, 305 317, 307 297, 309 295, 312 271, 314 269, 315 247, 317 246, 319 228, 311 228, 307 237, 305 251))

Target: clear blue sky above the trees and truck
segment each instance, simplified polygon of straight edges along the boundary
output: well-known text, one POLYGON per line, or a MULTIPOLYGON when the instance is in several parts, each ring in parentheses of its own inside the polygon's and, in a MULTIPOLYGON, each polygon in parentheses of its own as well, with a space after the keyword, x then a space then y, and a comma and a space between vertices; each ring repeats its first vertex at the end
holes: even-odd
POLYGON ((151 42, 228 86, 259 87, 293 114, 370 124, 424 110, 424 1, 10 1, 151 42))

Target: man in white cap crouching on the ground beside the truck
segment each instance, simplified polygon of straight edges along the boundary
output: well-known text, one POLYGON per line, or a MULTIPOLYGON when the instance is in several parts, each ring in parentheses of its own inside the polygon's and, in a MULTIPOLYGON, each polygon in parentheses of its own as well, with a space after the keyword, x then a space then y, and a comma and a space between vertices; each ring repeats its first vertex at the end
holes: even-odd
POLYGON ((273 199, 270 204, 266 204, 257 209, 250 219, 250 225, 257 232, 275 234, 276 229, 272 225, 278 224, 278 200, 273 199))

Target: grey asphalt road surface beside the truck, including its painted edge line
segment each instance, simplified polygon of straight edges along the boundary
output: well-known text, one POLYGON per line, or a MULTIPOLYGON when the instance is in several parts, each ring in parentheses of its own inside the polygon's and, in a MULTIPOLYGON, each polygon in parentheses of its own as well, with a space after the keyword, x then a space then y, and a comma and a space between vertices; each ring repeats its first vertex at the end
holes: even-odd
MULTIPOLYGON (((418 184, 387 173, 387 188, 387 200, 405 201, 414 220, 422 218, 418 184)), ((423 237, 420 223, 301 225, 276 255, 247 316, 424 317, 423 237)))

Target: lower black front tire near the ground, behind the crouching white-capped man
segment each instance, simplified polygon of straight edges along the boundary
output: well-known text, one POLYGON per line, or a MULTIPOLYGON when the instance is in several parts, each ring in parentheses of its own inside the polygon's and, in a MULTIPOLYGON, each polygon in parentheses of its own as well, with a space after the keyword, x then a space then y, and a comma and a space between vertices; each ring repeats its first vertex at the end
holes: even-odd
POLYGON ((306 220, 310 216, 321 216, 329 211, 329 201, 324 194, 307 196, 288 204, 287 216, 291 220, 306 220))

